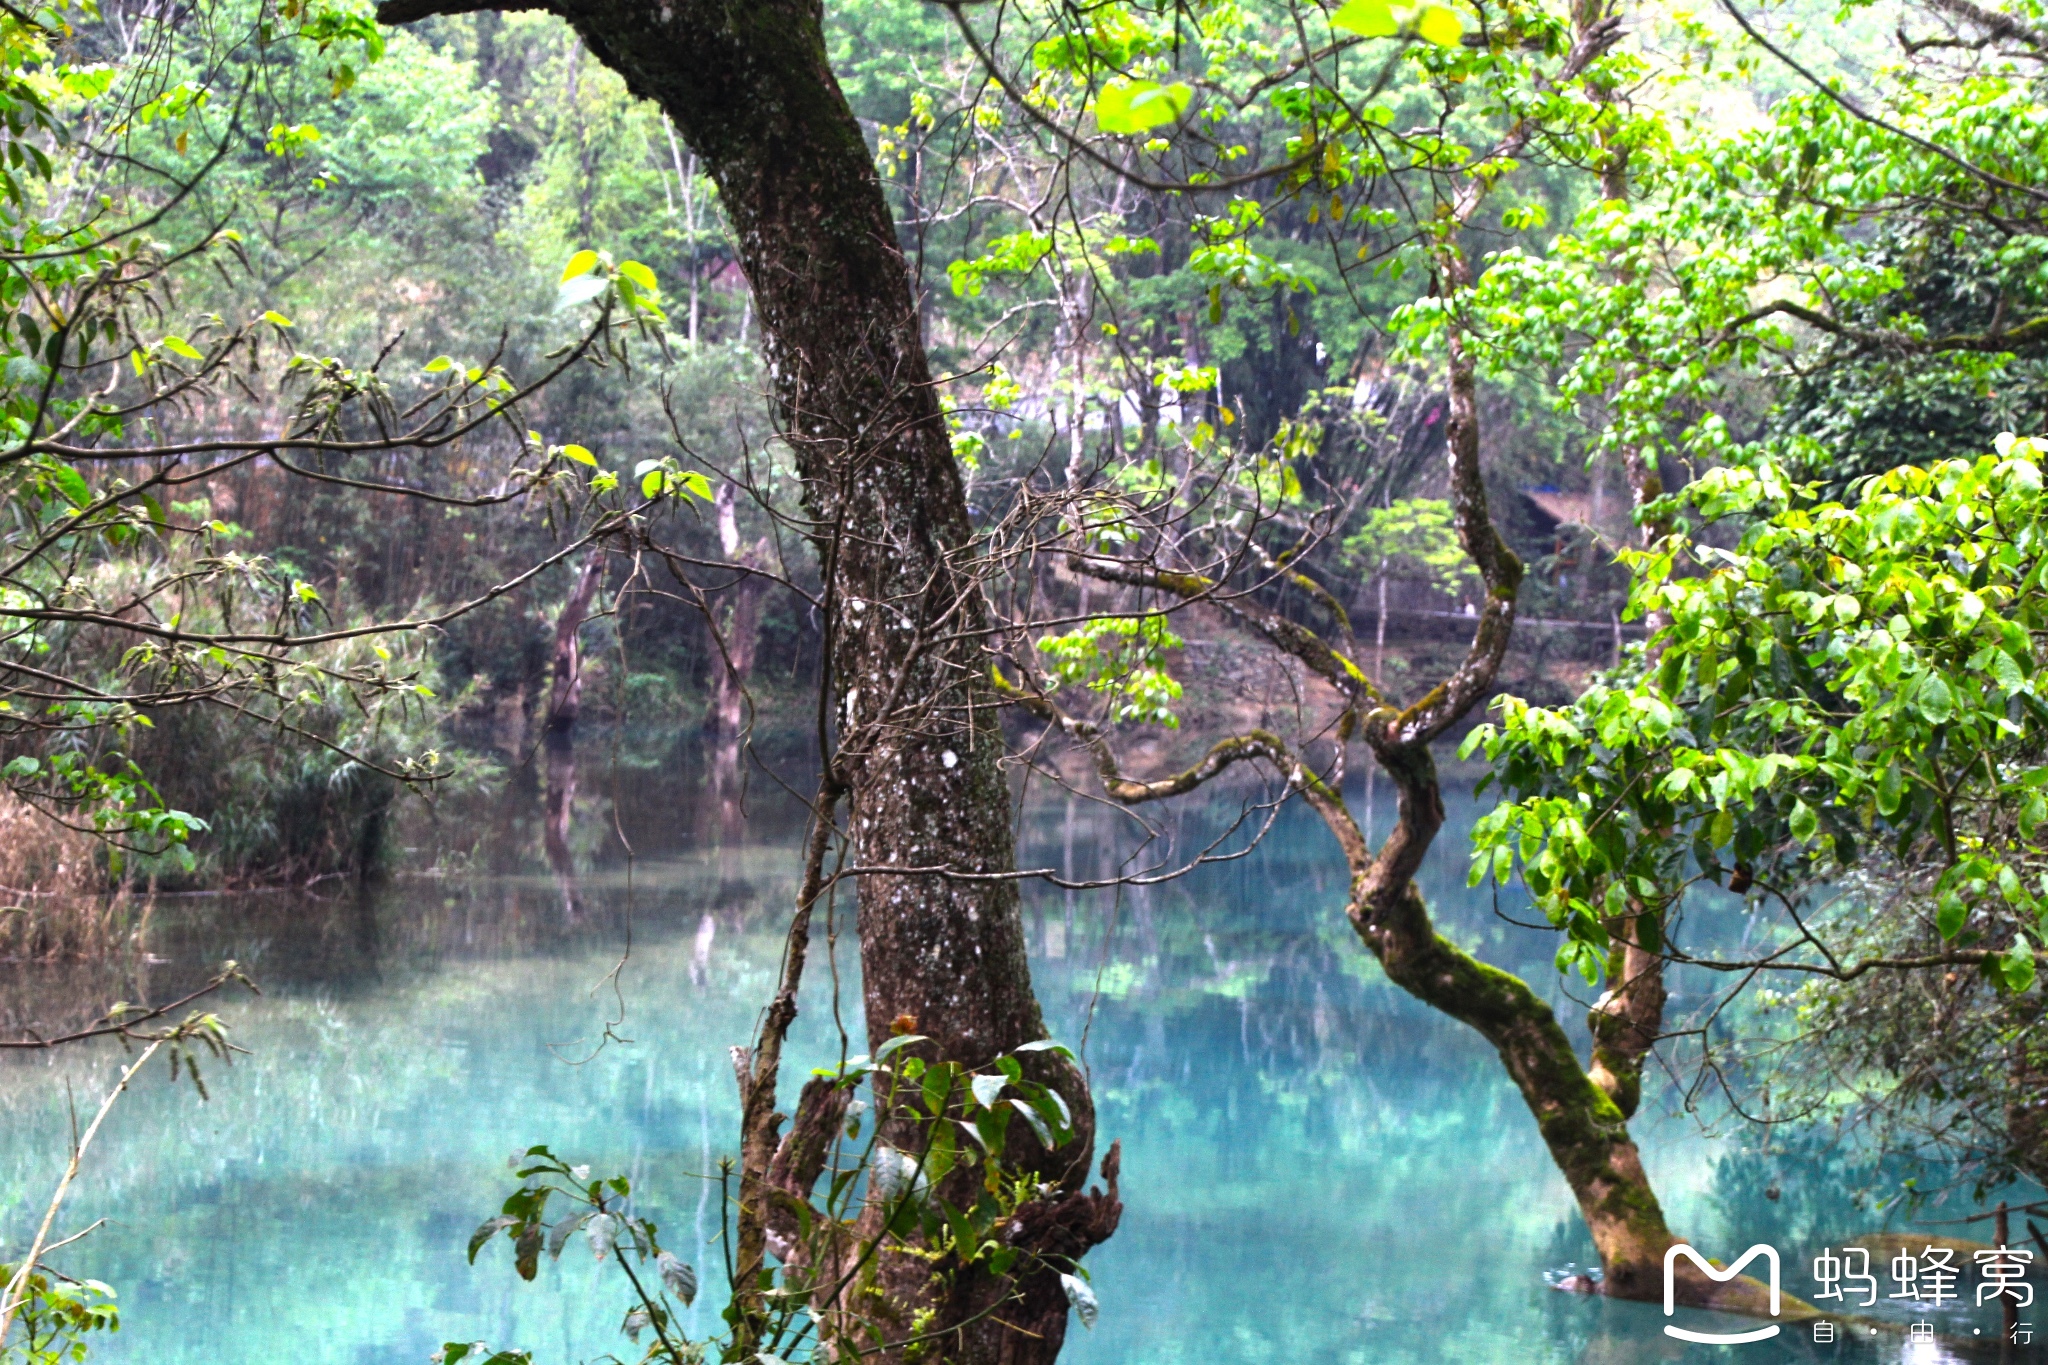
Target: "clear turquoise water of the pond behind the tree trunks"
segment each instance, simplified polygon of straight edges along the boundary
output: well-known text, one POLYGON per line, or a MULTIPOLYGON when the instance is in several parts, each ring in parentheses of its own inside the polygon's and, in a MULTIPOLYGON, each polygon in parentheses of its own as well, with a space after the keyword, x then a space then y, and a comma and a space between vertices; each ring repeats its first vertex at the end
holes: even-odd
MULTIPOLYGON (((264 988, 223 1005, 250 1052, 207 1070, 211 1099, 152 1070, 88 1156, 63 1228, 109 1222, 59 1267, 121 1291, 127 1326, 98 1359, 418 1365, 473 1338, 549 1365, 633 1359, 625 1302, 588 1254, 535 1285, 502 1246, 475 1269, 463 1259, 512 1185, 508 1154, 532 1142, 629 1173, 664 1242, 719 1281, 719 1191, 702 1173, 731 1150, 727 1048, 770 990, 793 831, 770 812, 752 843, 664 839, 668 821, 717 821, 649 792, 621 812, 639 847, 627 866, 602 839, 608 814, 598 802, 582 817, 592 870, 575 921, 532 872, 397 878, 360 898, 166 900, 141 982, 16 968, 0 1003, 45 1023, 111 995, 166 999, 223 956, 264 988)), ((1094 876, 1126 845, 1110 821, 1049 802, 1026 837, 1034 857, 1094 876)), ((1520 907, 1464 888, 1468 821, 1466 802, 1427 868, 1446 931, 1561 990, 1550 943, 1495 913, 1520 907)), ((1182 882, 1030 892, 1038 993, 1055 1033, 1085 1044, 1104 1140, 1124 1142, 1122 1230, 1090 1263, 1102 1318, 1073 1330, 1065 1359, 2001 1359, 1890 1334, 1812 1347, 1790 1328, 1683 1347, 1655 1306, 1548 1289, 1546 1271, 1591 1248, 1534 1124, 1477 1036, 1378 976, 1341 890, 1327 835, 1296 812, 1249 857, 1182 882)), ((840 966, 856 1005, 850 943, 840 966)), ((829 974, 807 986, 801 1066, 838 1048, 829 974)), ((90 1109, 119 1062, 115 1048, 0 1060, 10 1236, 57 1177, 68 1095, 90 1109)), ((1638 1138, 1675 1226, 1722 1257, 1776 1242, 1792 1293, 1810 1293, 1819 1244, 1874 1230, 1810 1146, 1755 1152, 1683 1115, 1638 1121, 1638 1138)), ((709 1330, 713 1310, 696 1314, 709 1330)), ((1952 1342, 1997 1334, 1989 1310, 1942 1326, 1952 1342)))

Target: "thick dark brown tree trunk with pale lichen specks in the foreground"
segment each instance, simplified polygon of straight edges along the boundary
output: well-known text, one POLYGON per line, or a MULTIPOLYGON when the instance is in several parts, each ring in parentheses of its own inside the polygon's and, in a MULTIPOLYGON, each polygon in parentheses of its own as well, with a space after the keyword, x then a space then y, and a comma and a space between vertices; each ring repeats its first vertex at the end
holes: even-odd
MULTIPOLYGON (((379 18, 475 8, 496 6, 387 0, 379 18)), ((987 608, 909 270, 866 139, 831 74, 821 10, 807 0, 547 8, 633 94, 655 100, 702 158, 762 315, 780 428, 823 565, 834 780, 846 790, 856 862, 885 870, 856 878, 870 1046, 901 1021, 930 1040, 920 1044, 928 1056, 981 1066, 1044 1038, 1018 888, 1001 876, 1016 857, 1004 737, 981 655, 987 608)), ((793 997, 786 1009, 795 1011, 793 997)), ((1036 1078, 1067 1099, 1077 1134, 1061 1152, 1026 1160, 1053 1187, 1044 1209, 1071 1209, 1032 1236, 1049 1252, 1077 1257, 1114 1226, 1100 1205, 1081 1203, 1094 1107, 1075 1066, 1055 1052, 1028 1058, 1036 1078)), ((774 1064, 760 1062, 745 1085, 772 1097, 774 1064)), ((1053 1269, 1028 1275, 1016 1285, 1020 1300, 999 1312, 989 1306, 1004 1285, 961 1271, 940 1287, 942 1269, 909 1252, 881 1257, 877 1316, 893 1324, 891 1340, 911 1336, 911 1320, 934 1310, 918 1326, 930 1338, 926 1355, 1024 1365, 1059 1353, 1067 1302, 1053 1269)))

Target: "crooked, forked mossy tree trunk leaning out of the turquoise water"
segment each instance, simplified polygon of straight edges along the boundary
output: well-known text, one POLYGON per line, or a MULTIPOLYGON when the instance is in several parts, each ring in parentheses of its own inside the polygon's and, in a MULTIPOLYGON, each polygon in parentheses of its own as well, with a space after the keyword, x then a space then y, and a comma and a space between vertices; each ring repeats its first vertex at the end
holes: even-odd
MULTIPOLYGON (((1561 86, 1575 82, 1618 37, 1618 20, 1604 16, 1597 4, 1581 8, 1579 20, 1573 49, 1556 78, 1561 86)), ((1518 123, 1477 164, 1497 166, 1520 156, 1532 133, 1530 123, 1518 123)), ((1473 176, 1454 201, 1444 205, 1446 217, 1456 225, 1473 221, 1489 184, 1491 178, 1473 176)), ((1454 239, 1438 250, 1438 278, 1450 295, 1473 282, 1470 266, 1454 239)), ((1087 745, 1108 796, 1126 804, 1180 796, 1237 761, 1272 763, 1335 835, 1350 870, 1346 913, 1389 980, 1470 1025, 1499 1052, 1599 1248, 1604 1291, 1616 1297, 1657 1300, 1663 1297, 1665 1252, 1679 1238, 1665 1224, 1642 1158, 1628 1136, 1640 1060, 1663 1013, 1663 980, 1655 954, 1640 958, 1624 954, 1626 976, 1606 1003, 1608 1009, 1595 1011, 1597 1052, 1589 1068, 1579 1060, 1548 1001, 1522 978, 1481 962, 1438 933, 1430 907, 1415 886, 1415 874, 1444 825, 1442 788, 1430 745, 1493 690, 1513 630, 1516 596, 1524 573, 1522 563, 1501 540, 1487 505, 1481 477, 1477 366, 1456 323, 1448 327, 1446 342, 1450 413, 1444 452, 1450 463, 1450 503, 1458 540, 1487 591, 1464 661, 1411 706, 1391 704, 1354 661, 1313 630, 1241 596, 1219 596, 1223 585, 1217 581, 1157 563, 1083 553, 1069 557, 1071 567, 1094 577, 1186 600, 1208 600, 1343 694, 1348 706, 1337 731, 1339 743, 1352 737, 1364 739, 1378 767, 1395 784, 1395 823, 1376 849, 1360 831, 1337 786, 1317 776, 1276 735, 1251 731, 1225 739, 1198 765, 1178 776, 1141 782, 1122 776, 1098 726, 1065 716, 1044 696, 1012 690, 1012 698, 1087 745)), ((1749 1277, 1714 1281, 1679 1259, 1673 1281, 1675 1297, 1690 1306, 1767 1312, 1765 1287, 1749 1277)), ((1812 1308, 1798 1300, 1788 1300, 1784 1308, 1784 1316, 1812 1316, 1812 1308)))

